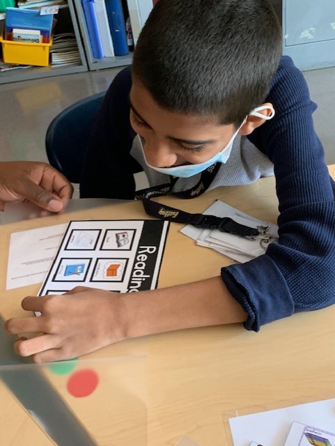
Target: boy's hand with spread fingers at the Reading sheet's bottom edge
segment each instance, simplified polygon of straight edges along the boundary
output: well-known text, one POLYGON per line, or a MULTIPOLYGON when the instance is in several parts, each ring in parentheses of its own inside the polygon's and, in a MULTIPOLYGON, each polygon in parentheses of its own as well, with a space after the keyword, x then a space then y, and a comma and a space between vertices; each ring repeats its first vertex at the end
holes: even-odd
POLYGON ((26 297, 22 308, 41 316, 13 318, 12 334, 40 333, 15 342, 15 351, 34 362, 71 359, 125 339, 123 302, 119 293, 77 286, 63 295, 26 297))

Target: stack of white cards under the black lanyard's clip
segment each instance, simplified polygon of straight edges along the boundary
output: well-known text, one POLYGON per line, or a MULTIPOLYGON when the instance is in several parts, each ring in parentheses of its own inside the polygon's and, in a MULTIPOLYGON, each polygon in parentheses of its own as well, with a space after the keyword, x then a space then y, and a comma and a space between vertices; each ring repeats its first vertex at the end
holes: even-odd
POLYGON ((276 224, 257 220, 222 201, 215 201, 203 214, 216 215, 217 217, 231 217, 235 222, 251 228, 260 226, 267 228, 267 236, 260 235, 252 239, 235 236, 231 233, 218 231, 217 229, 198 229, 190 224, 181 229, 181 232, 186 236, 196 240, 197 245, 215 249, 215 251, 231 257, 231 259, 240 263, 247 262, 264 254, 269 244, 276 243, 278 240, 278 226, 276 224))

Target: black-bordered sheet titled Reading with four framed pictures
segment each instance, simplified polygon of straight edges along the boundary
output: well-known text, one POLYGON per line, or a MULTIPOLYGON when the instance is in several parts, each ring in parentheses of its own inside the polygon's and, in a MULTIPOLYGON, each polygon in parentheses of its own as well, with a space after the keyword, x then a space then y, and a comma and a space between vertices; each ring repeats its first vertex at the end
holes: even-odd
POLYGON ((39 295, 75 286, 119 293, 155 289, 168 229, 162 220, 70 222, 39 295))

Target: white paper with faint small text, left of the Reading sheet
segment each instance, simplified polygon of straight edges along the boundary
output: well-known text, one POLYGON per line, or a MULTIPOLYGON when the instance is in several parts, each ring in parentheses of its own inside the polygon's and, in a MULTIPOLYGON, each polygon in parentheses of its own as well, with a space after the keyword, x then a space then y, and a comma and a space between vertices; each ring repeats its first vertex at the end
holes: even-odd
POLYGON ((43 282, 67 224, 15 232, 10 236, 7 289, 43 282))

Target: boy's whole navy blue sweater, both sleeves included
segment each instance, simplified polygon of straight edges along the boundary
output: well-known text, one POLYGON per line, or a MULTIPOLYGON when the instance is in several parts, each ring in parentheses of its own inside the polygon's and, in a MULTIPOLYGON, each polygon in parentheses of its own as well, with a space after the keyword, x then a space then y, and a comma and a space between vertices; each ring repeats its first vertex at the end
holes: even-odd
MULTIPOLYGON (((141 167, 130 156, 131 82, 128 67, 107 91, 88 144, 81 197, 134 198, 133 174, 141 167)), ((274 164, 279 243, 252 261, 221 269, 228 290, 248 314, 245 327, 255 331, 335 302, 335 187, 313 129, 316 106, 289 57, 282 57, 264 102, 274 105, 276 115, 248 138, 274 164)))

